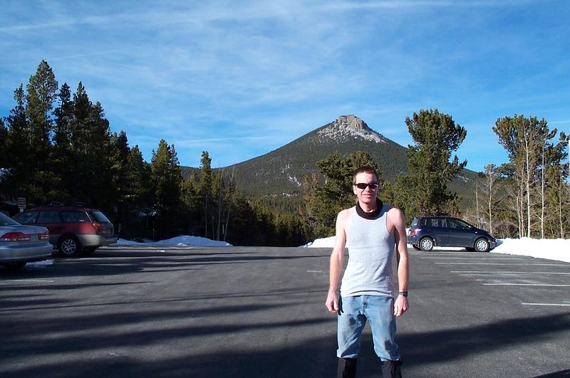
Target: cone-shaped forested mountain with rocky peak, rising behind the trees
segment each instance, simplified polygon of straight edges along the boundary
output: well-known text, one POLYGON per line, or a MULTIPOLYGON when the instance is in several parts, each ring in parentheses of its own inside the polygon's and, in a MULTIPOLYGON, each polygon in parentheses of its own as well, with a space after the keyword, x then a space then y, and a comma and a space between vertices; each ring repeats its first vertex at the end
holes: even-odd
MULTIPOLYGON (((406 148, 375 132, 354 115, 341 115, 283 147, 224 169, 235 172, 237 185, 245 194, 294 201, 301 197, 303 176, 318 172, 318 160, 334 152, 344 156, 356 151, 368 152, 381 167, 383 179, 390 182, 407 172, 406 148)), ((185 176, 190 171, 182 167, 185 176)), ((450 189, 472 196, 470 187, 476 174, 468 170, 463 173, 450 189)))

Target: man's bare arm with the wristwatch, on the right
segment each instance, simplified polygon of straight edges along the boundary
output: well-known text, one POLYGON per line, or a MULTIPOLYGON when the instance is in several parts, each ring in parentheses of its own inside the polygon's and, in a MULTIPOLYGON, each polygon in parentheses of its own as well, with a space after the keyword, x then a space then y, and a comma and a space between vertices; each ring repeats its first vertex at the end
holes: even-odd
MULTIPOLYGON (((408 291, 408 275, 410 268, 408 265, 408 246, 406 246, 405 220, 400 209, 390 209, 390 219, 393 224, 396 261, 398 262, 398 291, 408 291)), ((394 315, 401 316, 408 310, 408 298, 398 294, 394 303, 394 315)))

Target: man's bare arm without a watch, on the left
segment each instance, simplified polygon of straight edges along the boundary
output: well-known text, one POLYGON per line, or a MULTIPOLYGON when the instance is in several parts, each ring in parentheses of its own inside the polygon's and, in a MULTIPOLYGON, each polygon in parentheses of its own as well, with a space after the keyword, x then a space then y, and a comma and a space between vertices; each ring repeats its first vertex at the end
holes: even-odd
POLYGON ((350 212, 343 210, 336 217, 336 236, 334 239, 331 263, 328 271, 328 294, 326 308, 331 313, 338 313, 338 281, 344 266, 344 247, 346 245, 346 223, 350 212))

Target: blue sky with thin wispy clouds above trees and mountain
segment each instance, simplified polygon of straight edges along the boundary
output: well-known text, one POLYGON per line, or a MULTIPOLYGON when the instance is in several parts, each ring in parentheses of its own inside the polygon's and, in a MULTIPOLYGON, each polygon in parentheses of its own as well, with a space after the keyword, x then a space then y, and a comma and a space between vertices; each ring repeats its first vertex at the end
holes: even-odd
POLYGON ((44 59, 149 162, 164 139, 224 167, 345 114, 407 146, 405 117, 437 107, 480 171, 507 161, 499 117, 570 130, 566 0, 2 3, 0 115, 44 59))

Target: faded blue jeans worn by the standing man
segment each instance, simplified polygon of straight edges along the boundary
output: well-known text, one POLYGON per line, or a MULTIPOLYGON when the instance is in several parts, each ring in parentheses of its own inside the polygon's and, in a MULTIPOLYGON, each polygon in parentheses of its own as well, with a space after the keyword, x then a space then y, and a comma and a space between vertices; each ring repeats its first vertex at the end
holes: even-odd
POLYGON ((396 320, 393 298, 358 295, 341 298, 338 314, 338 350, 340 358, 356 358, 361 349, 361 335, 370 321, 374 352, 382 361, 400 359, 395 343, 396 320))

